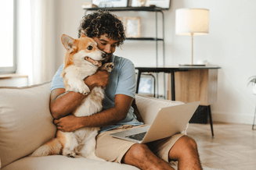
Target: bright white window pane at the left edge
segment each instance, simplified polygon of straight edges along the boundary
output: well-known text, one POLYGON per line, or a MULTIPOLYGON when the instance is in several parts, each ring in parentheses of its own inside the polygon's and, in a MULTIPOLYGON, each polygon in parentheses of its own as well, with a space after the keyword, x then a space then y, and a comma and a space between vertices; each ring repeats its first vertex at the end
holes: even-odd
POLYGON ((0 74, 16 72, 16 0, 0 5, 0 74))

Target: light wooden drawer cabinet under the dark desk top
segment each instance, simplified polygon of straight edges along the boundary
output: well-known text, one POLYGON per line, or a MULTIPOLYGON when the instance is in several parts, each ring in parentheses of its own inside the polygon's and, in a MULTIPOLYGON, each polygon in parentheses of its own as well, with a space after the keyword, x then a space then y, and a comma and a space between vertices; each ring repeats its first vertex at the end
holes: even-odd
MULTIPOLYGON (((217 101, 218 69, 189 69, 175 73, 175 100, 185 103, 200 101, 210 105, 217 101)), ((168 99, 171 100, 171 74, 168 79, 168 99)))

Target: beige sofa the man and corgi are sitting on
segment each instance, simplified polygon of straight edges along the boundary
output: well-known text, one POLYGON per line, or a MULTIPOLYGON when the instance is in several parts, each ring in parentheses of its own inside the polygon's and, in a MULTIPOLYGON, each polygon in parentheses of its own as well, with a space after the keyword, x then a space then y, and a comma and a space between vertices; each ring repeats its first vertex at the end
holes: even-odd
MULTIPOLYGON (((130 165, 94 161, 87 158, 67 158, 53 155, 29 157, 41 144, 52 139, 56 126, 49 111, 51 83, 32 87, 0 87, 0 168, 2 170, 82 170, 138 169, 130 165)), ((182 104, 136 95, 142 119, 150 124, 159 108, 182 104)))

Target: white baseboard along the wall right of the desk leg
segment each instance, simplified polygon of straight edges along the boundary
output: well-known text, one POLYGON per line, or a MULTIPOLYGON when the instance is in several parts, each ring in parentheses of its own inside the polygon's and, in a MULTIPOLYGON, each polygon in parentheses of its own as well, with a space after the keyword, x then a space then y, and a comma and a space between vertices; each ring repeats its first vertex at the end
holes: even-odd
POLYGON ((252 125, 254 122, 254 115, 234 115, 220 112, 211 112, 211 116, 213 122, 229 122, 249 125, 252 125))

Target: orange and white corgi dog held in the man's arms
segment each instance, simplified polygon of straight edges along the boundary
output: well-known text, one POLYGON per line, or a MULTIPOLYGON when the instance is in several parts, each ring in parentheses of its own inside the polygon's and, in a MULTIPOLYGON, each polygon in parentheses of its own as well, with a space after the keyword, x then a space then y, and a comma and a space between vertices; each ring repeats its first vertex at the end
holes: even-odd
MULTIPOLYGON (((109 62, 102 66, 101 60, 106 58, 106 54, 97 48, 96 41, 86 37, 83 33, 78 39, 63 34, 61 40, 63 46, 67 49, 63 72, 61 73, 65 90, 88 95, 72 114, 79 117, 100 112, 103 108, 103 88, 94 87, 90 91, 84 80, 87 76, 96 73, 98 69, 107 70, 110 73, 114 69, 114 63, 109 62)), ((84 127, 70 133, 63 133, 58 130, 56 138, 39 147, 31 156, 63 154, 67 157, 75 158, 78 155, 105 161, 95 154, 98 131, 98 127, 84 127)))

